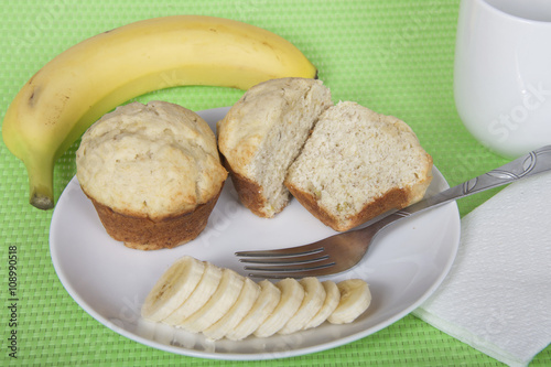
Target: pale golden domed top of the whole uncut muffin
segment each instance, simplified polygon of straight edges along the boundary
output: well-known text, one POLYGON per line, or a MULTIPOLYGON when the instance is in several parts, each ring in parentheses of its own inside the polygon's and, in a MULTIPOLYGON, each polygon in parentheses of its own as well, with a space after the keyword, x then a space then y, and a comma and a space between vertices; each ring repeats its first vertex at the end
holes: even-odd
POLYGON ((164 101, 131 102, 105 115, 84 133, 76 166, 88 196, 152 219, 193 211, 227 177, 207 122, 164 101))

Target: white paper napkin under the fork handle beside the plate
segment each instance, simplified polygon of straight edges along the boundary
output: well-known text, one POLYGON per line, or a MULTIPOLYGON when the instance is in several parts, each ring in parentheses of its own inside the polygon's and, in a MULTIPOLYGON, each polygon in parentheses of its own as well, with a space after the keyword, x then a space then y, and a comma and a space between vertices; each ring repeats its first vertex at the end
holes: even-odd
POLYGON ((516 182, 462 219, 455 262, 413 312, 509 366, 551 343, 551 172, 516 182))

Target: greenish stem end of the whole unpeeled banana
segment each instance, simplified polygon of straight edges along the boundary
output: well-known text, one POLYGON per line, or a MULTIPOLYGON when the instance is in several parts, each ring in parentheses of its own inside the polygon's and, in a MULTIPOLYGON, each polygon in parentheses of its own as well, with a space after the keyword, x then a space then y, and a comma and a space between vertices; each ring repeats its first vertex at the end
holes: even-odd
POLYGON ((53 159, 41 156, 25 160, 24 163, 29 174, 29 203, 39 209, 52 209, 54 207, 53 159))

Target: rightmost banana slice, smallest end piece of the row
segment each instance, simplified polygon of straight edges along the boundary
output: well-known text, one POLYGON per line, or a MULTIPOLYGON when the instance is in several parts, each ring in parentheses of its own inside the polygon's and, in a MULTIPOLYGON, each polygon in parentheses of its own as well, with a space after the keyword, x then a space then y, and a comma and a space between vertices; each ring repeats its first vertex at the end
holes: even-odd
POLYGON ((363 314, 371 303, 369 285, 361 279, 347 279, 337 283, 341 301, 327 317, 332 324, 346 324, 363 314))

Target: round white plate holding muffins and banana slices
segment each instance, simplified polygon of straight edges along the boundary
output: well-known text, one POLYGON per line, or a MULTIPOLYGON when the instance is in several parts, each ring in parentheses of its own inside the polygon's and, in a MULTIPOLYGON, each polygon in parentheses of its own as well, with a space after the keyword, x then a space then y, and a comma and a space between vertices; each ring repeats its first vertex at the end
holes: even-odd
MULTIPOLYGON (((214 128, 228 109, 199 112, 214 128)), ((434 169, 429 194, 447 184, 434 169)), ((284 336, 249 337, 241 342, 206 341, 140 317, 143 299, 172 262, 191 255, 242 274, 236 250, 303 245, 334 231, 296 201, 272 219, 262 219, 240 206, 228 180, 207 228, 194 241, 175 249, 139 251, 112 240, 94 206, 73 179, 52 217, 50 247, 61 282, 93 317, 112 331, 154 348, 214 359, 270 359, 304 355, 350 343, 406 316, 441 283, 455 258, 460 214, 450 203, 397 224, 383 233, 368 256, 347 272, 328 279, 361 278, 372 303, 347 325, 329 325, 284 336)))

